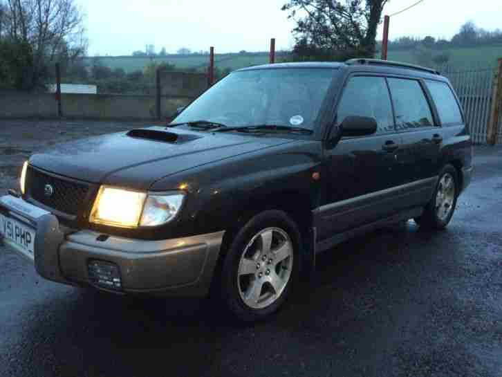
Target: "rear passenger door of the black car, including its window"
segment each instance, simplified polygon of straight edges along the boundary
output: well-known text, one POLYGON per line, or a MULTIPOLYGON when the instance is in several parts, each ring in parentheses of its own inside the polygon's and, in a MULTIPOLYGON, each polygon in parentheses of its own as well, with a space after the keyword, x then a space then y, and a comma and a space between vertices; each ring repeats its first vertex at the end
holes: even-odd
POLYGON ((396 130, 402 144, 396 156, 396 179, 404 187, 402 209, 423 205, 430 199, 439 169, 439 149, 443 138, 434 119, 431 99, 422 80, 387 77, 396 130))

